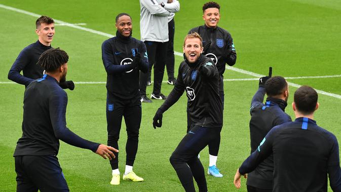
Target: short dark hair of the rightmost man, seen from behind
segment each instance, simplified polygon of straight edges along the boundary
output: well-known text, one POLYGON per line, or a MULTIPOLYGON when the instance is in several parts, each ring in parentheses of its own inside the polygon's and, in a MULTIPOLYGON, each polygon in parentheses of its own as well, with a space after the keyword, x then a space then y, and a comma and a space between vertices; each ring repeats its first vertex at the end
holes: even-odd
POLYGON ((294 94, 296 109, 303 114, 311 114, 315 111, 317 99, 317 92, 306 85, 298 88, 294 94))

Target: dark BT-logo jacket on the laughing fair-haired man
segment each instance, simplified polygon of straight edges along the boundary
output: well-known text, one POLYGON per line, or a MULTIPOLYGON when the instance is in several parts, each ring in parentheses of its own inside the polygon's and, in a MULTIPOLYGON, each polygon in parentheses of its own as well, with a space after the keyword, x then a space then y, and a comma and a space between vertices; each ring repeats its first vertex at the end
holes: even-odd
POLYGON ((182 61, 173 90, 160 109, 164 112, 183 94, 187 95, 187 112, 194 125, 221 128, 222 104, 219 97, 219 74, 216 66, 204 55, 196 63, 182 61), (207 73, 199 71, 205 67, 207 73))

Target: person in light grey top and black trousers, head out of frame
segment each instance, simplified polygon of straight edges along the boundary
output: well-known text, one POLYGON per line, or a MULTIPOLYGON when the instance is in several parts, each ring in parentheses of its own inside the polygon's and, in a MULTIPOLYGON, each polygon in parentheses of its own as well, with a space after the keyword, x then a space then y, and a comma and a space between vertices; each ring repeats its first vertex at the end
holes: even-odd
MULTIPOLYGON (((168 31, 168 16, 179 11, 180 4, 176 0, 171 3, 167 0, 140 0, 140 6, 141 41, 147 49, 149 73, 154 64, 154 88, 150 98, 166 99, 161 93, 168 44, 168 33, 164 31, 168 31)), ((150 103, 151 100, 146 96, 148 76, 149 74, 140 74, 140 94, 142 102, 150 103)))

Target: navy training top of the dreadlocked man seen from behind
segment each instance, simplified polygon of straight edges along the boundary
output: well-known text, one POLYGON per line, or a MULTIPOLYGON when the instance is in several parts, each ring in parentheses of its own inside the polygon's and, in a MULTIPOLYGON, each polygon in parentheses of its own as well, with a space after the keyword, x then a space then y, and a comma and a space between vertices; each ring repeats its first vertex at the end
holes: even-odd
POLYGON ((58 81, 45 74, 28 85, 24 94, 22 137, 14 156, 57 155, 59 139, 96 152, 99 143, 85 140, 66 127, 67 94, 58 81))

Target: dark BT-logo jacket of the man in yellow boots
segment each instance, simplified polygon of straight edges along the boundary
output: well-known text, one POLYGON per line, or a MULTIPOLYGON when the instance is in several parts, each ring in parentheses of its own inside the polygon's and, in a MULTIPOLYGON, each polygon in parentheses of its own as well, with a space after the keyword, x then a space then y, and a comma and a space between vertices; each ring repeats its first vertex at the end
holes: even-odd
POLYGON ((107 73, 106 89, 122 99, 139 97, 140 70, 148 72, 148 56, 143 42, 119 32, 102 44, 102 60, 107 73), (141 54, 139 67, 132 68, 135 51, 141 54))

